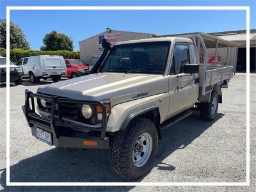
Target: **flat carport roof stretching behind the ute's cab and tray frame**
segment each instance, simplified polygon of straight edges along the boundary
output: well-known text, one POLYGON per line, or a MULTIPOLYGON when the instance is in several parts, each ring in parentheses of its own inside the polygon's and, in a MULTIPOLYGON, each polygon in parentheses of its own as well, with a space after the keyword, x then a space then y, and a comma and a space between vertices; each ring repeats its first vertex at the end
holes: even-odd
POLYGON ((218 36, 209 35, 207 33, 202 32, 195 32, 195 33, 182 33, 182 34, 175 34, 175 35, 158 35, 156 37, 164 37, 164 36, 189 36, 189 35, 200 35, 204 39, 205 46, 207 48, 215 48, 216 46, 216 40, 219 41, 218 47, 240 47, 239 44, 230 42, 228 40, 225 40, 223 38, 219 38, 218 36))

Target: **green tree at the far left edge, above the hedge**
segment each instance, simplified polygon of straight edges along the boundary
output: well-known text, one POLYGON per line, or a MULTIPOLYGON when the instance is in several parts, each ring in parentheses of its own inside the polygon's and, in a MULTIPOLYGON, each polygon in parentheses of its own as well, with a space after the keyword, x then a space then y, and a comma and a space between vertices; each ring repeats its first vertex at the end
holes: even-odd
MULTIPOLYGON (((6 20, 0 19, 0 48, 6 49, 6 20)), ((22 29, 10 21, 10 49, 30 49, 22 29)))

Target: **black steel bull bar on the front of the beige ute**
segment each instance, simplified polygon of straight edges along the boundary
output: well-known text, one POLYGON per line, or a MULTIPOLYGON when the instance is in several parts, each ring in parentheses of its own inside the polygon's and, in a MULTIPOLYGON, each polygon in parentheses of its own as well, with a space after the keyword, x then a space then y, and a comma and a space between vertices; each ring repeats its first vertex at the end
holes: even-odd
POLYGON ((99 101, 86 101, 86 100, 73 100, 63 97, 51 97, 48 95, 35 94, 25 91, 26 100, 25 105, 22 106, 24 115, 31 127, 32 135, 36 137, 36 128, 50 132, 52 136, 52 143, 56 147, 63 148, 109 148, 109 138, 106 137, 107 127, 107 111, 106 106, 99 101), (38 115, 35 111, 35 99, 45 99, 52 103, 52 106, 58 108, 58 115, 54 108, 51 109, 49 118, 44 118, 38 115), (76 104, 96 104, 102 108, 102 123, 100 126, 84 124, 81 122, 73 121, 72 123, 66 122, 61 117, 61 104, 76 103, 76 104), (93 136, 84 131, 93 131, 97 134, 93 136), (84 145, 87 143, 94 143, 92 145, 84 145))

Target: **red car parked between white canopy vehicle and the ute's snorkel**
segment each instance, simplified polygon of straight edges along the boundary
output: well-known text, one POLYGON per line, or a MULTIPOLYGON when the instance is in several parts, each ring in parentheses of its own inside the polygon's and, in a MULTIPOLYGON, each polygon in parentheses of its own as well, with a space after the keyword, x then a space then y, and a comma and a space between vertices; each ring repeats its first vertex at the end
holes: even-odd
POLYGON ((65 62, 67 66, 68 78, 76 78, 89 74, 88 65, 84 65, 81 60, 65 59, 65 62))

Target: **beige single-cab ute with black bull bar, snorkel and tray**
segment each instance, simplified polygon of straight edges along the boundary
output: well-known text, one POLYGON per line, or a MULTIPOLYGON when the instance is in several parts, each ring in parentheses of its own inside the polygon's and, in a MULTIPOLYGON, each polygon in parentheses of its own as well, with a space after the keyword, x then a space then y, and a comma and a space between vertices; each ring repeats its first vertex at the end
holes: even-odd
MULTIPOLYGON (((214 45, 215 40, 235 46, 216 38, 214 45)), ((102 46, 90 75, 41 86, 37 93, 26 90, 22 108, 38 140, 63 148, 109 149, 114 172, 138 179, 154 161, 161 127, 193 108, 204 120, 215 118, 221 87, 227 88, 234 67, 199 63, 207 49, 198 34, 113 47, 104 40, 102 46)))

